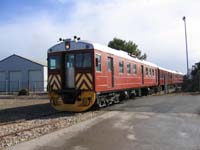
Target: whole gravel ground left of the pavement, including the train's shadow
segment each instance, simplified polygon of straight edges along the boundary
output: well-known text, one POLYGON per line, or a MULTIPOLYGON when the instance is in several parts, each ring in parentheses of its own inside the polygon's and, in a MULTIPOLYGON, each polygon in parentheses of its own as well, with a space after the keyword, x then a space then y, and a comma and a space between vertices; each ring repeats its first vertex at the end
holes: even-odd
POLYGON ((50 106, 48 99, 0 99, 0 123, 10 121, 17 122, 8 125, 0 125, 0 149, 29 141, 103 113, 104 111, 58 113, 50 106), (55 114, 31 119, 49 113, 55 114), (21 132, 21 130, 26 131, 21 132), (1 138, 1 136, 7 134, 11 135, 1 138))

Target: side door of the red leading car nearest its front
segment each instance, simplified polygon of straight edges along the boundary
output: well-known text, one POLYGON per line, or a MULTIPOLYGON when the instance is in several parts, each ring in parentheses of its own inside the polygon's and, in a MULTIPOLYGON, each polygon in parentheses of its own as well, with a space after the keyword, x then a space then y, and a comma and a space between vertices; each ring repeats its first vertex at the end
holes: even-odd
POLYGON ((114 67, 113 67, 112 57, 108 57, 107 72, 108 72, 108 87, 114 87, 114 67))

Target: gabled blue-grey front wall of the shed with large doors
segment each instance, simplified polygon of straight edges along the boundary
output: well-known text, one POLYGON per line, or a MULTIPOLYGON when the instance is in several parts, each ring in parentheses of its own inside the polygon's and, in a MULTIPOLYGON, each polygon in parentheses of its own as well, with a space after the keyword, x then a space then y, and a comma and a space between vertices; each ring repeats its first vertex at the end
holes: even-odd
POLYGON ((0 61, 0 92, 44 91, 44 78, 44 66, 23 57, 12 55, 0 61))

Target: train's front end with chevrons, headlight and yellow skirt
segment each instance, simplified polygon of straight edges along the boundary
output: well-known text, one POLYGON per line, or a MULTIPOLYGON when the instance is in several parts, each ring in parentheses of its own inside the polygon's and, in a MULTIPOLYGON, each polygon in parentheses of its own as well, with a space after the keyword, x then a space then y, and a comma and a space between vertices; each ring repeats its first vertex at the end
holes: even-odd
POLYGON ((48 92, 59 111, 82 112, 94 105, 92 44, 66 39, 48 50, 48 92))

